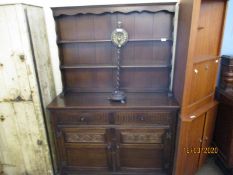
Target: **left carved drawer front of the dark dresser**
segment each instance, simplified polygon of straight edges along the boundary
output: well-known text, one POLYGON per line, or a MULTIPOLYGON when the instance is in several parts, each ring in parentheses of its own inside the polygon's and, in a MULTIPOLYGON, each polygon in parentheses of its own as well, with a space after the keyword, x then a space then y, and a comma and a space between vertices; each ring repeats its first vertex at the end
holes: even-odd
POLYGON ((109 124, 108 112, 86 112, 76 110, 58 111, 53 114, 57 124, 99 125, 109 124))

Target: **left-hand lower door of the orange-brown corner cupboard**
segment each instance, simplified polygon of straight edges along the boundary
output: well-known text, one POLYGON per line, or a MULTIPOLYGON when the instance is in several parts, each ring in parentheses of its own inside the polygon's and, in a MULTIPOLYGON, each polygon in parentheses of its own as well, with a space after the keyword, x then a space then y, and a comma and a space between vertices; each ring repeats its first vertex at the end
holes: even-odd
POLYGON ((198 162, 201 149, 203 127, 205 123, 205 114, 193 117, 190 121, 188 130, 188 143, 184 148, 186 154, 185 173, 184 175, 193 175, 198 170, 198 162))

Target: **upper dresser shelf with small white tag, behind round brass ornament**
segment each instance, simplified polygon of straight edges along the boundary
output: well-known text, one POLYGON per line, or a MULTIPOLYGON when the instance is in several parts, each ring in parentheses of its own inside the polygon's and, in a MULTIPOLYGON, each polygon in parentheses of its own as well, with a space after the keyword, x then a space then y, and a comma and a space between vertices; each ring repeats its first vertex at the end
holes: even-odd
MULTIPOLYGON (((148 38, 148 39, 129 39, 129 42, 150 42, 150 41, 161 41, 170 42, 173 41, 171 38, 148 38)), ((111 40, 60 40, 58 44, 73 44, 73 43, 106 43, 111 42, 111 40)))

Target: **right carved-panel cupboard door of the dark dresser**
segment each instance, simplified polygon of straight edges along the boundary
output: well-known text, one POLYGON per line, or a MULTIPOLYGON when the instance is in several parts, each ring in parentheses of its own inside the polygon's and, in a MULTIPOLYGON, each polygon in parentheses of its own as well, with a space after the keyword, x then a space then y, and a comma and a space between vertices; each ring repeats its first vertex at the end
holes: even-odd
POLYGON ((171 144, 166 145, 167 128, 134 128, 117 130, 118 144, 117 157, 118 169, 127 171, 143 171, 148 168, 153 170, 162 170, 168 168, 167 158, 170 154, 171 144), (167 164, 167 165, 166 165, 167 164))

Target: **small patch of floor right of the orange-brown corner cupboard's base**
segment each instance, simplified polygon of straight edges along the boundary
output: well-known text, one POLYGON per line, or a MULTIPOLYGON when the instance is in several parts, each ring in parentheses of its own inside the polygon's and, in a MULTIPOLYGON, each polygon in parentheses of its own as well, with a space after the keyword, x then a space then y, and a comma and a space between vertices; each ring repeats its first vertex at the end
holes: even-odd
POLYGON ((224 173, 215 164, 214 158, 208 158, 206 164, 197 172, 196 175, 224 175, 224 173))

